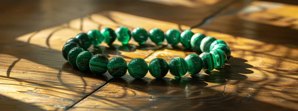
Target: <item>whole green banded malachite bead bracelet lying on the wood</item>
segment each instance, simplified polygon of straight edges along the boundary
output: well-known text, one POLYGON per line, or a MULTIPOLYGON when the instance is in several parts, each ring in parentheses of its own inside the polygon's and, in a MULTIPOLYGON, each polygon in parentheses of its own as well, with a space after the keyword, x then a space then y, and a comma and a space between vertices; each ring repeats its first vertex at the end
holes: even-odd
POLYGON ((211 36, 202 33, 194 34, 190 30, 182 33, 179 30, 170 29, 165 34, 162 30, 154 28, 149 33, 143 28, 128 30, 119 27, 116 31, 110 28, 90 30, 88 33, 80 33, 75 38, 67 40, 62 49, 63 57, 68 60, 70 65, 77 67, 81 71, 91 71, 96 74, 109 72, 113 77, 122 77, 128 71, 133 78, 143 78, 149 73, 155 78, 162 78, 170 72, 175 77, 182 77, 185 74, 197 74, 201 70, 211 71, 215 68, 223 67, 231 56, 231 50, 223 40, 216 40, 211 36), (184 59, 175 57, 169 63, 162 58, 153 59, 149 65, 144 59, 135 58, 128 64, 121 57, 108 59, 103 54, 93 55, 87 50, 91 45, 99 46, 101 42, 111 45, 115 39, 128 44, 132 38, 139 44, 145 44, 148 37, 156 45, 163 43, 164 39, 168 44, 176 46, 179 42, 185 48, 192 48, 200 55, 190 54, 184 59))

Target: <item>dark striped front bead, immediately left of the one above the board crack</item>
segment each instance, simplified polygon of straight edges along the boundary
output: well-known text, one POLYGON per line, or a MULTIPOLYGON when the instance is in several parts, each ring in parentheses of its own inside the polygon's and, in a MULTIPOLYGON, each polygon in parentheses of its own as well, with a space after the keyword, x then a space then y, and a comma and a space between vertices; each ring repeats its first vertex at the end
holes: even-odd
POLYGON ((89 61, 89 68, 95 74, 103 74, 108 70, 108 57, 103 54, 95 54, 89 61))

